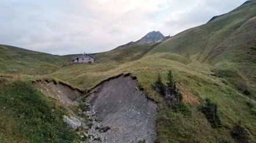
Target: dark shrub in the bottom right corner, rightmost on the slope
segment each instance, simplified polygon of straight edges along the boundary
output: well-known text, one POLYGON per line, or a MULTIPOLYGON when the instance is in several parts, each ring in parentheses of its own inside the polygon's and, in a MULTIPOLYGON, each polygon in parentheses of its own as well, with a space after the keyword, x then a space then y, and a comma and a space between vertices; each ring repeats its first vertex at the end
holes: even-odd
POLYGON ((237 142, 249 142, 250 134, 246 130, 244 126, 241 125, 241 121, 239 121, 231 131, 231 135, 237 142))

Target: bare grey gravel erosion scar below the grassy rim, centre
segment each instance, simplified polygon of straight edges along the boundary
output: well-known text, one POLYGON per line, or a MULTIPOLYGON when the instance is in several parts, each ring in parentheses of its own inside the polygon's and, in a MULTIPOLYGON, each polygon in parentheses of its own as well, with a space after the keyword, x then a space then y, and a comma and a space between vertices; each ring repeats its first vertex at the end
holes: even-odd
POLYGON ((118 76, 102 83, 87 97, 94 119, 88 130, 90 142, 154 142, 157 138, 157 104, 138 90, 130 76, 118 76), (99 129, 109 127, 104 133, 99 129), (95 129, 96 128, 96 129, 95 129), (98 130, 97 130, 98 129, 98 130), (100 141, 101 140, 101 141, 100 141))

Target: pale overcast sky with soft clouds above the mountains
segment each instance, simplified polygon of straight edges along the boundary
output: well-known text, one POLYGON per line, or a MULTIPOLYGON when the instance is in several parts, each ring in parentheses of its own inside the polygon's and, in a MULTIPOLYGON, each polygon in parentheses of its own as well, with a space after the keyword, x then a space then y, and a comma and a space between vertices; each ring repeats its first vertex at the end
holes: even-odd
POLYGON ((175 35, 244 0, 0 0, 0 44, 51 54, 104 52, 150 31, 175 35))

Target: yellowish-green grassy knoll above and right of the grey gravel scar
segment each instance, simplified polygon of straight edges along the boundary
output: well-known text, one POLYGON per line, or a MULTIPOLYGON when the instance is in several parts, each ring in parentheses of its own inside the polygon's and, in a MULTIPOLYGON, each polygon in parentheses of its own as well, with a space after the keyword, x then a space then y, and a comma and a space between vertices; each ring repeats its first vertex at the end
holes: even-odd
POLYGON ((244 126, 251 133, 251 138, 255 140, 256 102, 238 93, 233 85, 227 83, 225 79, 212 76, 211 65, 201 64, 197 61, 186 65, 164 58, 155 60, 154 56, 147 56, 121 65, 74 64, 63 67, 48 77, 61 79, 70 85, 86 90, 111 76, 127 72, 137 76, 139 85, 143 87, 148 97, 159 102, 157 129, 160 142, 216 142, 219 140, 233 142, 230 131, 239 120, 243 120, 244 126), (190 105, 191 116, 170 111, 163 98, 152 90, 151 85, 157 79, 157 74, 160 73, 166 82, 169 69, 172 69, 175 74, 175 79, 183 93, 184 102, 190 105), (203 98, 211 98, 218 104, 223 124, 220 129, 213 129, 204 115, 198 111, 200 95, 203 98), (254 107, 248 107, 247 102, 253 104, 254 107))

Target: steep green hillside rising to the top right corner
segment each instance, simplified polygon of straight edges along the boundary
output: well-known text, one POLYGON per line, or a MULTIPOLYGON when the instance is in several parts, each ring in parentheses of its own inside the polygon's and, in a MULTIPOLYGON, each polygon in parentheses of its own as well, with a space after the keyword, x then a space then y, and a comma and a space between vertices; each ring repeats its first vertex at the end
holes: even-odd
POLYGON ((148 54, 179 54, 214 65, 216 76, 227 79, 241 92, 256 98, 256 1, 199 27, 183 31, 148 54))

